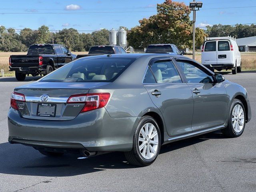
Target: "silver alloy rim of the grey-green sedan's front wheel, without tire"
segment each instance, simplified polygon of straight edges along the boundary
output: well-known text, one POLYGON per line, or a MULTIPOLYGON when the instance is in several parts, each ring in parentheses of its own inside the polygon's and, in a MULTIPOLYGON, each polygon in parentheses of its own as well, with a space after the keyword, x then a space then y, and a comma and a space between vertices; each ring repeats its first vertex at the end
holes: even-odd
POLYGON ((232 111, 232 126, 237 133, 244 127, 244 110, 239 104, 236 104, 232 111))

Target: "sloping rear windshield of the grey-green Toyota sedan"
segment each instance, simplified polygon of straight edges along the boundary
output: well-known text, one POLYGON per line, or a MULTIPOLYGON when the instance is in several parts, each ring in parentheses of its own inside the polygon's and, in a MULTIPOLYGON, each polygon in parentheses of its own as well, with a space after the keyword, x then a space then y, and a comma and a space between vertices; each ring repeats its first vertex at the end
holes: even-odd
POLYGON ((112 82, 134 58, 79 59, 50 73, 42 82, 112 82))

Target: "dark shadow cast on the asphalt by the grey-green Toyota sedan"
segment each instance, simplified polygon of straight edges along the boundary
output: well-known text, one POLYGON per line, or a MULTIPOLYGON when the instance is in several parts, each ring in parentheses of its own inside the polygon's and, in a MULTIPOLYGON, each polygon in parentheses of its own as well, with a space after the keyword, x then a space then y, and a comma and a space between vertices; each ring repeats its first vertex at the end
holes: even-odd
MULTIPOLYGON (((195 138, 177 141, 162 146, 160 155, 209 139, 223 138, 222 134, 209 133, 195 138)), ((20 144, 0 144, 0 173, 30 176, 75 176, 107 169, 138 168, 130 165, 122 152, 112 152, 91 158, 78 159, 79 154, 65 154, 62 157, 43 156, 32 147, 20 144)))

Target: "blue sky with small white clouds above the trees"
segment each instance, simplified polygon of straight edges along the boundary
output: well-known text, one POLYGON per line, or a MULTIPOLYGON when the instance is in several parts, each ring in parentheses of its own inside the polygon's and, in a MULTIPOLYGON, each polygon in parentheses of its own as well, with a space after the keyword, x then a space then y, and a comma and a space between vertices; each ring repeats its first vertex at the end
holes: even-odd
MULTIPOLYGON (((176 1, 185 4, 190 2, 190 0, 176 1)), ((256 6, 256 0, 201 1, 203 2, 203 8, 197 12, 196 26, 256 22, 256 7, 227 8, 256 6)), ((117 29, 119 26, 131 28, 139 24, 138 20, 156 14, 156 4, 162 2, 164 0, 2 0, 0 25, 16 29, 24 27, 37 29, 41 25, 46 25, 49 26, 50 30, 71 27, 77 30, 99 30, 100 28, 110 30, 111 28, 117 29), (64 14, 38 14, 46 12, 61 12, 64 14), (78 12, 94 13, 69 14, 78 12)))

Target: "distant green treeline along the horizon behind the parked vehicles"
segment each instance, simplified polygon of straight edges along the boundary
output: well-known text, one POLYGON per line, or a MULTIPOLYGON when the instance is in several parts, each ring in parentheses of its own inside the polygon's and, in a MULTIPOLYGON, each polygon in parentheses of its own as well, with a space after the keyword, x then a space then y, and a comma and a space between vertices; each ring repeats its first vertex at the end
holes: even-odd
MULTIPOLYGON (((128 30, 128 28, 122 26, 120 28, 128 30)), ((234 36, 236 38, 256 36, 256 25, 252 24, 249 26, 238 24, 236 26, 228 26, 218 24, 211 27, 206 26, 206 30, 204 30, 200 36, 218 37, 228 35, 234 36)), ((140 48, 140 46, 136 45, 136 42, 138 43, 137 38, 138 35, 134 35, 132 31, 127 33, 127 39, 130 42, 130 45, 134 46, 135 48, 140 48)), ((201 37, 200 42, 196 44, 197 47, 202 44, 202 40, 203 38, 201 37)), ((162 40, 162 42, 164 42, 164 40, 162 40)), ((26 51, 31 44, 40 43, 63 44, 72 51, 88 51, 90 46, 107 45, 109 43, 108 30, 102 29, 92 33, 79 33, 74 28, 65 28, 58 32, 50 32, 48 26, 43 25, 38 28, 38 30, 24 28, 20 30, 19 33, 17 33, 13 28, 6 29, 4 26, 0 26, 0 51, 22 52, 26 51)))

